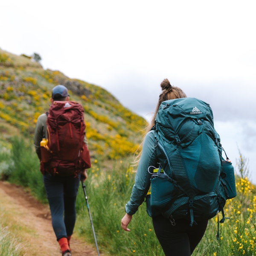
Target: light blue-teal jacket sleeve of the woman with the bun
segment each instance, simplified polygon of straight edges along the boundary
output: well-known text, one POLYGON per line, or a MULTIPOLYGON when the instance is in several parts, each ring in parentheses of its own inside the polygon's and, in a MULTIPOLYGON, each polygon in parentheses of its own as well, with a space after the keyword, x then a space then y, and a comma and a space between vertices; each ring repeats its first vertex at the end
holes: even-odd
MULTIPOLYGON (((158 168, 157 151, 154 148, 154 131, 148 132, 143 143, 142 154, 135 176, 135 183, 131 192, 130 201, 125 206, 125 212, 133 215, 143 203, 145 196, 150 188, 151 174, 148 172, 149 166, 158 168)), ((151 169, 152 172, 152 169, 151 169)))

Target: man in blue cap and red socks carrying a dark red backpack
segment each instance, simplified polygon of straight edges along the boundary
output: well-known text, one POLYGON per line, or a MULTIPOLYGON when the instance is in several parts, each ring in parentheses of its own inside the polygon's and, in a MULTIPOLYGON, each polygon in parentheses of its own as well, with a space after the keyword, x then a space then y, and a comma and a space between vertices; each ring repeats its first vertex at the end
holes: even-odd
POLYGON ((62 256, 71 256, 70 239, 76 221, 79 181, 87 179, 90 156, 82 106, 70 100, 63 85, 52 89, 49 112, 38 117, 35 150, 52 215, 52 227, 62 256), (63 217, 64 216, 64 217, 63 217))

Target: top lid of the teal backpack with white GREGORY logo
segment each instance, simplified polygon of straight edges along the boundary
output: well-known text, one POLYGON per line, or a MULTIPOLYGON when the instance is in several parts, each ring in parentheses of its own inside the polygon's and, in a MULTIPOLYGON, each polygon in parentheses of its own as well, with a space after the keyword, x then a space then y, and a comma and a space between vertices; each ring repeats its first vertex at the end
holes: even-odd
POLYGON ((203 119, 213 124, 213 114, 210 105, 196 98, 170 99, 161 103, 157 112, 156 123, 177 134, 180 127, 191 119, 203 119))

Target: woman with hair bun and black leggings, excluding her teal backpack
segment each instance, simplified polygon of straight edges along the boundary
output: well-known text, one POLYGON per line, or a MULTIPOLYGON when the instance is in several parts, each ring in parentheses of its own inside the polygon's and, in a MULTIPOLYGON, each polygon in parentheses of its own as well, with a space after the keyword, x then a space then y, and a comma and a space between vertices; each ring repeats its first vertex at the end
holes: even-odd
MULTIPOLYGON (((155 128, 155 124, 156 124, 155 120, 157 117, 157 112, 160 109, 160 105, 162 102, 165 102, 167 100, 186 98, 186 94, 183 92, 183 90, 181 90, 179 87, 172 86, 168 79, 164 79, 160 84, 160 86, 162 89, 162 93, 159 96, 156 111, 154 113, 152 121, 148 125, 148 128, 146 129, 146 135, 142 143, 143 144, 142 151, 136 158, 136 159, 139 158, 139 160, 137 161, 139 162, 139 165, 138 165, 138 169, 135 177, 135 184, 132 189, 130 201, 128 201, 128 203, 125 206, 126 214, 121 221, 122 229, 125 231, 130 231, 128 229, 128 224, 130 223, 132 216, 137 212, 138 207, 143 203, 144 198, 146 197, 150 186, 151 186, 151 194, 152 194, 152 184, 151 184, 152 178, 151 177, 152 177, 154 168, 151 168, 151 167, 155 166, 156 168, 158 168, 159 162, 160 162, 160 165, 162 165, 161 160, 158 159, 158 155, 157 155, 158 142, 156 140, 157 129, 155 128)), ((186 99, 194 99, 194 98, 186 98, 186 99)), ((169 104, 167 103, 164 107, 161 107, 161 108, 165 108, 166 106, 169 107, 169 104)), ((202 114, 202 111, 199 111, 199 109, 200 109, 200 106, 197 106, 196 108, 196 106, 193 105, 193 109, 191 108, 191 110, 189 110, 191 111, 190 114, 192 118, 194 118, 195 115, 202 114)), ((199 120, 199 122, 201 121, 199 120)), ((206 124, 206 122, 204 122, 204 124, 206 124)), ((200 129, 200 125, 197 124, 196 126, 199 127, 198 129, 200 129)), ((212 128, 212 130, 214 130, 214 128, 212 128)), ((180 137, 180 140, 181 142, 183 142, 183 139, 181 139, 181 137, 180 137)), ((180 144, 182 145, 182 143, 180 144)), ((180 144, 173 142, 173 147, 178 147, 180 146, 180 144)), ((163 168, 163 165, 162 165, 162 168, 163 168)), ((218 169, 218 173, 219 173, 220 165, 218 166, 218 168, 219 168, 218 169)), ((160 169, 161 167, 159 168, 159 173, 160 173, 160 169)), ((165 168, 163 169, 166 170, 165 168)), ((161 172, 163 172, 163 169, 161 170, 161 172)), ((174 177, 172 178, 174 179, 174 177)), ((163 180, 163 179, 160 179, 160 180, 163 180)), ((174 185, 176 186, 176 184, 174 185)), ((180 184, 177 181, 177 186, 179 185, 180 184)), ((189 202, 190 201, 187 199, 186 207, 188 207, 189 202)), ((218 206, 217 206, 216 212, 213 213, 213 216, 216 215, 217 211, 218 211, 218 206)), ((184 216, 185 215, 187 215, 188 218, 174 217, 175 218, 174 219, 170 217, 168 219, 166 218, 166 216, 163 216, 163 213, 162 214, 160 213, 160 214, 157 214, 156 216, 153 216, 152 218, 154 231, 156 233, 157 239, 159 240, 166 256, 190 256, 195 250, 195 247, 198 245, 198 243, 201 241, 202 237, 204 236, 205 230, 207 228, 208 219, 203 219, 199 221, 198 219, 196 219, 196 222, 195 222, 192 217, 190 219, 189 210, 186 210, 184 216)), ((212 218, 213 216, 210 216, 209 218, 212 218)))

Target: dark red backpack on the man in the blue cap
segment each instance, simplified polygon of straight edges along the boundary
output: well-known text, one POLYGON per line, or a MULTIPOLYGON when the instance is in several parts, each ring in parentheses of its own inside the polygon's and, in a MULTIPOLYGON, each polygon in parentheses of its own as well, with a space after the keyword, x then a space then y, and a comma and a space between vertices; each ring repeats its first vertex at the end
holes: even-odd
POLYGON ((74 101, 55 101, 47 115, 50 160, 45 171, 58 175, 75 175, 91 167, 90 154, 84 143, 84 110, 74 101))

